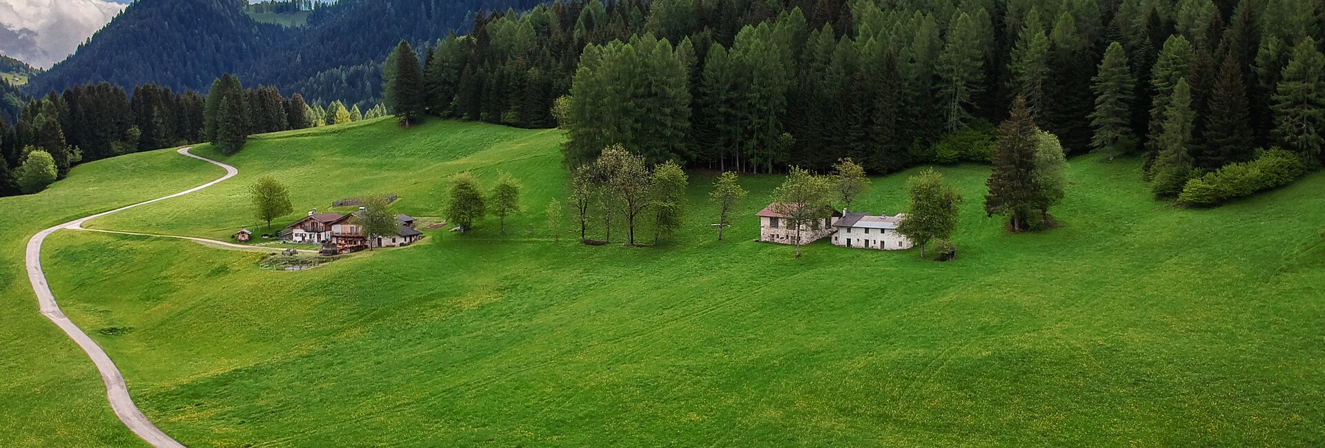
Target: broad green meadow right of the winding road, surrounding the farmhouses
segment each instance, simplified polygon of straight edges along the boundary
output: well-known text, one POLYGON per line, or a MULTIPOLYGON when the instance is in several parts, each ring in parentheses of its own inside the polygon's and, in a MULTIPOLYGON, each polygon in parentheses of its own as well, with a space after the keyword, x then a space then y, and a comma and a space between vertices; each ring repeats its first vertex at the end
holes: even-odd
MULTIPOLYGON (((269 135, 221 158, 231 182, 93 223, 225 237, 252 225, 242 191, 261 175, 293 188, 282 223, 368 192, 437 215, 447 176, 470 170, 523 180, 506 236, 489 220, 288 273, 61 232, 46 270, 143 411, 191 447, 1325 441, 1325 175, 1183 211, 1150 200, 1137 162, 1079 158, 1063 227, 1008 235, 980 208, 987 170, 949 167, 967 199, 958 261, 824 243, 795 260, 750 243, 753 219, 714 241, 704 174, 677 244, 554 243, 542 209, 564 196, 560 139, 454 122, 269 135)), ((857 208, 900 211, 910 174, 876 179, 857 208)), ((778 182, 743 178, 741 215, 778 182)))

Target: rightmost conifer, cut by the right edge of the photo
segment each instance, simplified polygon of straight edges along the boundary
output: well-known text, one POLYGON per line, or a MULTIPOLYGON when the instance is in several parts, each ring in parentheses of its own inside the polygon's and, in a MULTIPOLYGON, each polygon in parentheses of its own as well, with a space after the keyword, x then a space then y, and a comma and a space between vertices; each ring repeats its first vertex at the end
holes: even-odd
POLYGON ((1325 54, 1316 40, 1302 38, 1275 89, 1275 137, 1304 160, 1321 162, 1325 130, 1325 54))

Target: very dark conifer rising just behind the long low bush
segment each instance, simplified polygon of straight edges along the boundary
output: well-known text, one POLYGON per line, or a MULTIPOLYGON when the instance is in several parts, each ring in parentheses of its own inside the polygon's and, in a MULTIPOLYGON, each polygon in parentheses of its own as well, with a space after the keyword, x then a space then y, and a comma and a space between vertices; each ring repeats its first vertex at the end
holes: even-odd
POLYGON ((1219 80, 1210 91, 1210 118, 1203 152, 1207 159, 1198 160, 1202 167, 1212 170, 1252 159, 1255 138, 1248 111, 1243 68, 1234 54, 1228 54, 1219 69, 1219 80))

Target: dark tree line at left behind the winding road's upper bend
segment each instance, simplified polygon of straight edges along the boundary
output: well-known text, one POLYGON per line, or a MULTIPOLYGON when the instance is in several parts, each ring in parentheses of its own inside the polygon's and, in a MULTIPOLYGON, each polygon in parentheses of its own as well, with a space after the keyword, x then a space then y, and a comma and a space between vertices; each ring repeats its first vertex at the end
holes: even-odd
POLYGON ((78 163, 195 142, 233 154, 252 134, 386 115, 383 105, 360 111, 334 101, 323 107, 270 86, 245 89, 231 74, 217 78, 205 98, 154 84, 131 94, 109 82, 73 86, 28 102, 13 126, 0 118, 0 196, 40 191, 78 163), (34 152, 42 155, 32 158, 34 152), (23 168, 29 159, 34 166, 23 168), (46 159, 54 172, 49 179, 46 159))

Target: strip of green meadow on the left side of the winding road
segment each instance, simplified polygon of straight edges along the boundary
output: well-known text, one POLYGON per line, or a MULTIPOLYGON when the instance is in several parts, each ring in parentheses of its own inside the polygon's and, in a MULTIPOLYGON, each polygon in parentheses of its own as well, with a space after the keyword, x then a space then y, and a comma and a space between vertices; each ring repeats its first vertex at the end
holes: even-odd
MULTIPOLYGON (((37 231, 221 176, 172 150, 78 166, 37 195, 0 197, 0 445, 132 447, 142 443, 106 404, 91 362, 37 310, 23 265, 37 231)), ((49 252, 46 252, 49 253, 49 252)), ((91 292, 85 292, 91 293, 91 292)), ((136 380, 129 380, 136 390, 136 380)))

